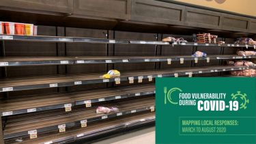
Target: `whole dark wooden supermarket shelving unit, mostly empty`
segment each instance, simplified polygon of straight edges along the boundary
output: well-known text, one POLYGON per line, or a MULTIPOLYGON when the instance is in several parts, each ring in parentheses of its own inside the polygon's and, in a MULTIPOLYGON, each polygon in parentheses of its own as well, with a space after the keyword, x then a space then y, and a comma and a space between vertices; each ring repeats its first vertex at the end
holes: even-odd
POLYGON ((0 3, 9 8, 0 7, 0 16, 10 15, 1 21, 28 23, 36 17, 39 35, 0 35, 0 143, 89 141, 154 124, 154 78, 230 76, 230 71, 256 68, 225 64, 229 59, 256 58, 236 55, 237 50, 255 51, 255 46, 233 44, 240 36, 256 38, 255 18, 223 17, 219 12, 152 0, 102 0, 102 6, 97 1, 86 5, 61 0, 59 5, 47 6, 42 1, 36 5, 19 1, 19 5, 31 5, 20 12, 17 4, 8 3, 16 2, 0 3), (104 5, 117 9, 106 10, 104 5), (102 8, 95 12, 94 6, 102 8), (158 17, 151 17, 152 13, 158 17), (24 19, 20 21, 17 14, 24 19), (199 23, 205 14, 219 17, 218 22, 214 17, 208 18, 208 24, 199 23), (223 20, 233 25, 227 27, 223 20), (226 44, 192 42, 191 34, 199 32, 219 35, 218 40, 226 44), (160 41, 168 36, 188 42, 160 41), (192 57, 195 51, 208 55, 192 57), (121 76, 100 77, 112 69, 121 76), (119 111, 97 114, 98 106, 115 106, 119 111))

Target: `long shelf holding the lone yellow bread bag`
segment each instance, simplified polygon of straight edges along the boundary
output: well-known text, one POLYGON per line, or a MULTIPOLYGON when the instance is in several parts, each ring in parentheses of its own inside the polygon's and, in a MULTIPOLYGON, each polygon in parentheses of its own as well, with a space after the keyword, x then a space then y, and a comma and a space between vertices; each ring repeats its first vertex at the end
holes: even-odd
POLYGON ((3 78, 0 81, 0 92, 21 91, 26 89, 43 89, 50 87, 66 87, 72 85, 86 85, 91 83, 109 83, 128 81, 129 79, 141 79, 149 81, 150 78, 162 76, 181 76, 201 74, 209 72, 223 72, 233 70, 245 70, 256 68, 256 66, 203 66, 193 68, 172 68, 165 70, 141 70, 136 72, 122 72, 119 78, 100 78, 102 74, 75 74, 75 75, 55 75, 55 76, 28 76, 24 78, 3 78))

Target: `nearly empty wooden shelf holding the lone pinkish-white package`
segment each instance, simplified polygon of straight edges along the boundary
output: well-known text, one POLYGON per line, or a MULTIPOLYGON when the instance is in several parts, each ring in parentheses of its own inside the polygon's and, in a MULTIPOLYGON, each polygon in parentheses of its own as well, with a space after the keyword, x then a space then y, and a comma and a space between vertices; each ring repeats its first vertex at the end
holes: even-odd
POLYGON ((81 127, 81 121, 87 120, 87 125, 89 125, 93 121, 141 113, 143 111, 154 111, 154 96, 121 102, 109 102, 107 104, 93 106, 89 109, 84 109, 82 107, 80 109, 75 109, 72 113, 49 111, 47 113, 41 113, 41 115, 38 115, 38 113, 27 114, 27 117, 22 115, 11 116, 6 122, 3 138, 11 139, 14 137, 27 137, 30 130, 36 130, 38 134, 54 130, 57 131, 59 130, 59 126, 63 125, 66 129, 75 126, 81 127), (96 114, 96 108, 98 106, 114 106, 119 109, 119 112, 96 114))

